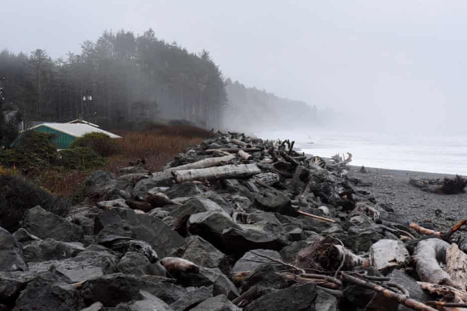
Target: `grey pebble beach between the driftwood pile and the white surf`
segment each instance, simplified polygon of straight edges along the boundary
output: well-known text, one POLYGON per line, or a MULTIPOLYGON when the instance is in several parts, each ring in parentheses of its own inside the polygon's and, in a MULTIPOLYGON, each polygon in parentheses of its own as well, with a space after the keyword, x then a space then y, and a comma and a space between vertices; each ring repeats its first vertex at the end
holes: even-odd
POLYGON ((435 229, 443 231, 467 218, 467 193, 433 194, 409 184, 410 178, 442 179, 455 175, 367 167, 367 173, 360 173, 359 166, 348 165, 347 168, 349 177, 373 184, 371 187, 356 186, 356 189, 371 192, 378 203, 388 204, 409 221, 431 223, 435 229))

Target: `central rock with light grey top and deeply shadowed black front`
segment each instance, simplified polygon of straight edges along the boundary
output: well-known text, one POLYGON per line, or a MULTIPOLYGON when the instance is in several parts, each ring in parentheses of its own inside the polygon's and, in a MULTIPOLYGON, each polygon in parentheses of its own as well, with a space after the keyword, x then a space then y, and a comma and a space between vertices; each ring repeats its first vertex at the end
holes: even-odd
POLYGON ((232 218, 225 212, 203 212, 190 216, 188 219, 188 231, 209 241, 216 247, 222 246, 221 234, 226 229, 240 227, 233 222, 232 218))

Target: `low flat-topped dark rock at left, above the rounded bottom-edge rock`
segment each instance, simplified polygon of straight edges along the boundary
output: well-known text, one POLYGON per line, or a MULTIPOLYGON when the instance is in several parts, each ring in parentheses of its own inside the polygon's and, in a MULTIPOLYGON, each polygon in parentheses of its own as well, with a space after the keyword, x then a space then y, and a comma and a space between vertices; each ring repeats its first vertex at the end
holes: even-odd
POLYGON ((28 262, 60 260, 76 256, 85 248, 82 243, 69 243, 45 239, 34 241, 23 248, 23 253, 28 262))

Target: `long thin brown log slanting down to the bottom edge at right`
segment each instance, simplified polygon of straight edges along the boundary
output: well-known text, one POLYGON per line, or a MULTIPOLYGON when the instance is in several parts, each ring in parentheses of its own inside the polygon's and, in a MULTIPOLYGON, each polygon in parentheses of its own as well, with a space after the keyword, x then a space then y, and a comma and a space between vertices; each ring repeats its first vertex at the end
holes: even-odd
POLYGON ((406 305, 409 308, 412 308, 414 310, 436 311, 435 308, 432 308, 431 306, 426 305, 423 302, 414 300, 414 299, 412 299, 412 298, 410 298, 410 297, 408 297, 407 295, 404 295, 404 294, 398 294, 398 293, 396 293, 396 292, 394 292, 392 290, 389 290, 389 289, 387 289, 387 288, 385 288, 385 287, 383 287, 381 285, 378 285, 376 283, 370 282, 368 280, 360 279, 358 277, 349 275, 349 274, 344 273, 344 272, 341 272, 341 275, 342 275, 342 279, 344 281, 347 281, 348 283, 352 283, 352 284, 355 284, 355 285, 358 285, 358 286, 362 286, 362 287, 365 287, 365 288, 376 290, 376 291, 382 293, 384 296, 395 299, 399 303, 402 303, 402 304, 404 304, 404 305, 406 305))

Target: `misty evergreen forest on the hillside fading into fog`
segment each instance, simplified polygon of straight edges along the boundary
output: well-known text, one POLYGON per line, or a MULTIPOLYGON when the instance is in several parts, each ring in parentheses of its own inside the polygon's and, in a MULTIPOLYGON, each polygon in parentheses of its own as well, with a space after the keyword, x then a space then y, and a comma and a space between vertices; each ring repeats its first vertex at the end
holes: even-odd
MULTIPOLYGON (((250 130, 310 123, 316 108, 225 79, 209 52, 121 30, 104 31, 81 53, 53 60, 47 51, 0 52, 4 110, 25 120, 83 118, 107 128, 155 120, 187 120, 211 129, 250 130), (83 100, 84 98, 84 100, 83 100)), ((2 121, 2 120, 0 120, 2 121)))

